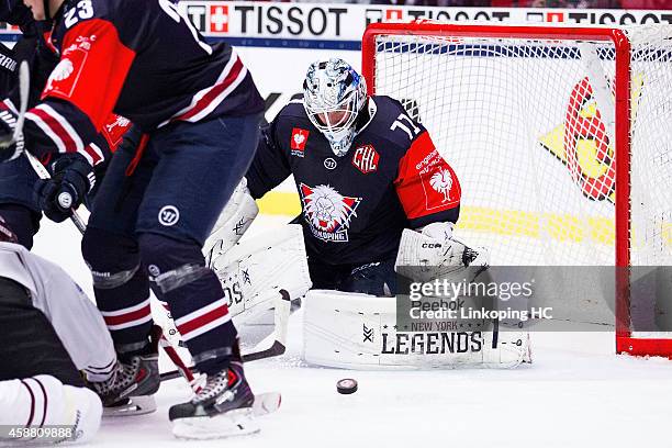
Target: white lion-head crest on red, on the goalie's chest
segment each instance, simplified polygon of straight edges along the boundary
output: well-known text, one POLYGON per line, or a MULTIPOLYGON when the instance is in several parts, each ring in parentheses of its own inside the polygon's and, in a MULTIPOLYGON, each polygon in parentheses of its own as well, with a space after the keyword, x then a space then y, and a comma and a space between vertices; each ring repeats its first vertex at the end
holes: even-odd
POLYGON ((303 219, 316 238, 325 242, 348 240, 348 226, 361 198, 344 197, 329 186, 300 184, 303 219))

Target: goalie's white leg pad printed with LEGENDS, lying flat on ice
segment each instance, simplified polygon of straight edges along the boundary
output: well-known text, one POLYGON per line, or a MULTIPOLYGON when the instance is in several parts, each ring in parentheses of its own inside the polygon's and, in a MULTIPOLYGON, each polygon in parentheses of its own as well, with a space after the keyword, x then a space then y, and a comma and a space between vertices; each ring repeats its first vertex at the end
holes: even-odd
POLYGON ((399 332, 396 298, 312 290, 303 309, 303 357, 320 366, 511 368, 519 365, 528 351, 526 333, 507 332, 501 336, 491 323, 470 331, 399 332))

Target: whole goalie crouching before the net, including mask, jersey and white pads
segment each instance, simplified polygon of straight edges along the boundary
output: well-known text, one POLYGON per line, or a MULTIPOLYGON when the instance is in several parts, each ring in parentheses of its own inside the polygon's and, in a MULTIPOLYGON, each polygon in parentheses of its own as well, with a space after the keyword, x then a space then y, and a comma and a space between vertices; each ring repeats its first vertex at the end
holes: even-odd
POLYGON ((421 343, 404 356, 404 337, 415 344, 424 340, 422 333, 402 332, 394 355, 385 346, 396 337, 396 301, 372 296, 397 292, 395 269, 425 264, 440 268, 429 275, 485 275, 488 254, 452 237, 460 183, 427 130, 399 101, 368 96, 365 79, 341 59, 312 64, 303 99, 262 130, 246 175, 251 197, 261 198, 290 175, 301 198, 296 221, 313 282, 304 310, 309 362, 514 367, 529 358, 526 334, 499 334, 491 322, 469 335, 441 334, 478 341, 463 352, 423 352, 429 343, 421 343))

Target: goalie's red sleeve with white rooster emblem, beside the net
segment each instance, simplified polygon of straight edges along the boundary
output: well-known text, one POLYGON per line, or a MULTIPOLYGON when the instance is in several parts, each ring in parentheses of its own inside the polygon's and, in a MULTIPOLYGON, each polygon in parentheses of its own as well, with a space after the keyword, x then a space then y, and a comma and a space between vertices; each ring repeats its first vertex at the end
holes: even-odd
POLYGON ((400 160, 394 186, 413 228, 439 221, 457 222, 460 182, 427 131, 413 141, 400 160))

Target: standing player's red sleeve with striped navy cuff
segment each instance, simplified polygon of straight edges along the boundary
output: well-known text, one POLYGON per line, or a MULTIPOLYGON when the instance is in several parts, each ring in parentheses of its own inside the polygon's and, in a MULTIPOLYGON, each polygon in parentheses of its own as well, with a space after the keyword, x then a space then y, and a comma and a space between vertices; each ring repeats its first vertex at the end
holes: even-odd
POLYGON ((25 115, 26 147, 37 156, 78 152, 90 159, 88 144, 111 116, 135 53, 102 19, 72 26, 61 48, 42 102, 25 115))

